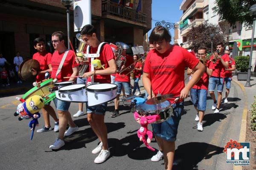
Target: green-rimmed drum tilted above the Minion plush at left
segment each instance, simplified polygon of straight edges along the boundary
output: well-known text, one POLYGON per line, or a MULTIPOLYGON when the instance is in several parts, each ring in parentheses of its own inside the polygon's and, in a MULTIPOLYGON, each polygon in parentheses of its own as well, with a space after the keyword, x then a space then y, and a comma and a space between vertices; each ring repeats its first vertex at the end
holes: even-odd
POLYGON ((54 87, 54 85, 52 84, 53 79, 48 79, 44 82, 41 82, 40 88, 38 87, 33 87, 32 89, 30 89, 28 92, 26 92, 23 96, 22 99, 26 100, 28 99, 30 96, 34 96, 34 95, 39 95, 42 96, 44 99, 44 104, 47 104, 48 102, 52 101, 52 99, 55 98, 55 93, 51 93, 49 90, 51 88, 54 87), (44 94, 46 96, 44 96, 44 94))

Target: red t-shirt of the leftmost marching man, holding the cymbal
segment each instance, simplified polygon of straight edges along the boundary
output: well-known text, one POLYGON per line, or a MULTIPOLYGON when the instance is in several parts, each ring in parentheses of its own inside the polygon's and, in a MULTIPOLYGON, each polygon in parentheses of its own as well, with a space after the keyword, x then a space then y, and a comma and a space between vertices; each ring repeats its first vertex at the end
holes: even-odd
MULTIPOLYGON (((49 69, 49 64, 52 62, 52 54, 48 53, 47 51, 44 54, 39 54, 38 52, 33 55, 33 58, 39 62, 40 64, 40 71, 44 71, 49 69)), ((41 82, 44 79, 44 74, 38 74, 35 77, 36 82, 41 82)))

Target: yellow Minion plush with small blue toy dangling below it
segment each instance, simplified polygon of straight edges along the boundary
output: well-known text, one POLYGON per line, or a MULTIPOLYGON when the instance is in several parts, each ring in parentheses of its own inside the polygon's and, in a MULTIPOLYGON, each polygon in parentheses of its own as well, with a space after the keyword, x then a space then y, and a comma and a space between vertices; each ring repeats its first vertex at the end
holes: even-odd
POLYGON ((19 97, 16 97, 16 99, 20 100, 22 103, 17 106, 17 111, 14 113, 14 116, 19 116, 18 120, 31 119, 29 128, 32 130, 30 136, 30 139, 32 140, 35 126, 39 125, 38 118, 41 116, 39 111, 44 107, 44 100, 38 95, 31 96, 26 100, 19 97))

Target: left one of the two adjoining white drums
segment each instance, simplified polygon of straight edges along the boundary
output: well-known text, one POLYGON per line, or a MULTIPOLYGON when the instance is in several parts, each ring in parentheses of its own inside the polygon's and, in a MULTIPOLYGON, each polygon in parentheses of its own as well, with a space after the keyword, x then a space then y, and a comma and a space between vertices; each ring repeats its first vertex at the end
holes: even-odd
POLYGON ((87 102, 84 84, 67 85, 55 91, 56 98, 65 102, 87 102))

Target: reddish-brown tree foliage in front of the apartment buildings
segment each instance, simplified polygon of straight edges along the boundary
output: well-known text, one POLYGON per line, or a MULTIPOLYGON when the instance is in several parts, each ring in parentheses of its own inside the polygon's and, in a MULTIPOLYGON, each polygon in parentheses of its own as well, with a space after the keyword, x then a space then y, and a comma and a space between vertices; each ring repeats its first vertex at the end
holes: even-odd
POLYGON ((227 45, 227 36, 223 34, 221 27, 217 24, 201 23, 198 26, 192 26, 187 34, 188 42, 190 43, 190 49, 197 51, 200 46, 207 48, 207 51, 211 51, 211 45, 213 51, 215 51, 216 44, 223 42, 227 45), (214 34, 211 40, 210 34, 214 34))

